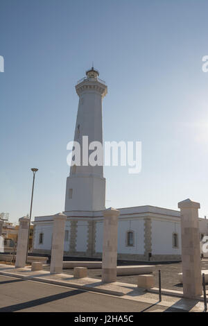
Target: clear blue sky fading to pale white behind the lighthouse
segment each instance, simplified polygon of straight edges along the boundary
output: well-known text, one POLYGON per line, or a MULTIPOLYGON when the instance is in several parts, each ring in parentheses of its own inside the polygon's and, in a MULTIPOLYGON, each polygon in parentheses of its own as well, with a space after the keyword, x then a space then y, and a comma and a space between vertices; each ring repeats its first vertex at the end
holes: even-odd
POLYGON ((208 215, 207 0, 1 0, 0 212, 64 209, 74 86, 92 65, 108 86, 106 141, 142 141, 142 169, 105 167, 107 207, 177 209, 191 198, 208 215))

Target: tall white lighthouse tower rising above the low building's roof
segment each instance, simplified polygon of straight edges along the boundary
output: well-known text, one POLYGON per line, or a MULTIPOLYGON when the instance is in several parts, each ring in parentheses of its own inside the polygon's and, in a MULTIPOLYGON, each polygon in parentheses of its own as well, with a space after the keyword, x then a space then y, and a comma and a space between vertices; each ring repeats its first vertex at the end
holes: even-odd
MULTIPOLYGON (((89 144, 92 141, 103 144, 102 100, 107 94, 107 86, 98 78, 99 73, 94 67, 86 72, 86 76, 76 85, 79 104, 74 140, 79 142, 81 153, 83 136, 88 136, 89 144)), ((80 164, 71 166, 67 178, 65 212, 105 209, 103 166, 84 166, 82 160, 80 164)))

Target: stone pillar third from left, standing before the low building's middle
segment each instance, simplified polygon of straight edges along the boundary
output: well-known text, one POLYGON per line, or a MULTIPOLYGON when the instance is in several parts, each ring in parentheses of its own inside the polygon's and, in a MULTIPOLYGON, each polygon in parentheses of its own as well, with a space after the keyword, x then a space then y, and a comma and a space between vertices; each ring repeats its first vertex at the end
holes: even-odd
POLYGON ((103 212, 102 281, 106 283, 116 281, 119 214, 119 210, 112 207, 103 212))

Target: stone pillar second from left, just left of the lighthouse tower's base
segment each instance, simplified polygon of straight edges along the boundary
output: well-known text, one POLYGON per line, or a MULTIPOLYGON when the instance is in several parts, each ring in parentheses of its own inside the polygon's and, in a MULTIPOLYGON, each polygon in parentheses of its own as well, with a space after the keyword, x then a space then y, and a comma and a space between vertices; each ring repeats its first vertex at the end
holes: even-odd
POLYGON ((51 250, 51 274, 62 273, 64 255, 64 230, 67 216, 59 213, 53 216, 53 239, 51 250))

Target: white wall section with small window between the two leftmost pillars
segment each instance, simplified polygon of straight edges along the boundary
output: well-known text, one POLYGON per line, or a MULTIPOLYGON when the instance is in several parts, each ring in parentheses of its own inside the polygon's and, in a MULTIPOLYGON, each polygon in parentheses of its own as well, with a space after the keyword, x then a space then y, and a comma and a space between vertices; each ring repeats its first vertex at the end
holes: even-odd
POLYGON ((34 239, 34 249, 51 250, 53 224, 50 225, 35 225, 35 239, 34 239), (43 243, 39 243, 39 234, 43 233, 43 243))

